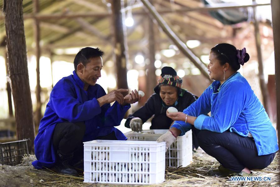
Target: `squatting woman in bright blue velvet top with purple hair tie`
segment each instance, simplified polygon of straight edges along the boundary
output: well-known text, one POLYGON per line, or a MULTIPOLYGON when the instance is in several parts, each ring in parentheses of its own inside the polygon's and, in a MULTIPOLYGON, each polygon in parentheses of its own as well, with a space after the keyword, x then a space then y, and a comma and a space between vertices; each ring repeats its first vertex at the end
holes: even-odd
POLYGON ((211 49, 209 60, 209 76, 215 81, 183 112, 167 113, 175 122, 158 141, 169 146, 194 125, 201 130, 199 146, 221 163, 208 174, 249 176, 250 170, 273 161, 276 131, 249 83, 237 72, 249 60, 246 49, 221 43, 211 49))

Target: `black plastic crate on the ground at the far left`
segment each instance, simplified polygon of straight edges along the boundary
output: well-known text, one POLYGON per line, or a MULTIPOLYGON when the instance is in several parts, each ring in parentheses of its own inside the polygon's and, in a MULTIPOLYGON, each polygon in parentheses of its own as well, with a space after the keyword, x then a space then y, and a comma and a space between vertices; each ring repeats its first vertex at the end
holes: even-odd
POLYGON ((18 165, 21 163, 23 155, 29 156, 27 140, 0 143, 0 153, 0 164, 18 165))

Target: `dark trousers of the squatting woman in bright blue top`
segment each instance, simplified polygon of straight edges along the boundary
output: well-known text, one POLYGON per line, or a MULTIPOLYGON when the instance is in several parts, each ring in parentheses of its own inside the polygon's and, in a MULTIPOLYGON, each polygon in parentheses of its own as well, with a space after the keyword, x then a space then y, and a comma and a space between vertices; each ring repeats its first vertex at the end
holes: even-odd
POLYGON ((243 137, 234 132, 223 133, 201 130, 198 133, 199 146, 220 164, 232 171, 266 168, 274 159, 275 153, 258 155, 253 138, 243 137))

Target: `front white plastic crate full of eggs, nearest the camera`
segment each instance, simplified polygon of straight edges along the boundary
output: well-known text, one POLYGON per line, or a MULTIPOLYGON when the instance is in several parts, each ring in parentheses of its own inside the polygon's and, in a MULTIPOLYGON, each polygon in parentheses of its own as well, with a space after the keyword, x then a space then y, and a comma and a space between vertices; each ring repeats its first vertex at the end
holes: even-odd
POLYGON ((84 144, 84 182, 157 184, 164 181, 165 142, 93 140, 84 144))

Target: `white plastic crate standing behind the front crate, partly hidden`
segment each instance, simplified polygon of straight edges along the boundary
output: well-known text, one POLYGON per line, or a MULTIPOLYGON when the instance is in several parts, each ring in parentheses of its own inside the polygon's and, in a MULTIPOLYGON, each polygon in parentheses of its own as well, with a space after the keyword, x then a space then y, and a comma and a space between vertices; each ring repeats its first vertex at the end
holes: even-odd
MULTIPOLYGON (((168 129, 143 130, 142 132, 130 131, 125 133, 128 140, 156 141, 159 136, 166 133, 168 129)), ((165 165, 169 167, 186 167, 192 163, 192 130, 183 136, 178 136, 177 140, 170 145, 165 155, 165 165)))

